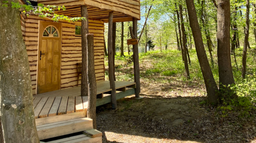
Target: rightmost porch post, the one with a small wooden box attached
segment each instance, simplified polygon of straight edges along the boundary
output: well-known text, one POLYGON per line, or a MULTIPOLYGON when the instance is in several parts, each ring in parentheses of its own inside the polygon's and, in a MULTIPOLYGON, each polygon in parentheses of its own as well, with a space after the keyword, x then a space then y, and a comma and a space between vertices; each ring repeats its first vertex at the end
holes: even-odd
MULTIPOLYGON (((137 19, 133 18, 133 34, 137 38, 137 19)), ((136 82, 135 97, 140 96, 140 66, 138 44, 133 45, 134 80, 136 82)))

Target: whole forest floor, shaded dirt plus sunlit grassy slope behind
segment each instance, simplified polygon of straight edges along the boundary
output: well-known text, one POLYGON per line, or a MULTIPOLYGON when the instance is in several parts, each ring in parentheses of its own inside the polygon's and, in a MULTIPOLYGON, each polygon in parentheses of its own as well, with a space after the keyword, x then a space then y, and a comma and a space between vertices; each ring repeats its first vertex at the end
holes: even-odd
MULTIPOLYGON (((237 49, 236 83, 241 79, 242 51, 237 49)), ((223 112, 206 106, 206 91, 196 51, 189 50, 190 79, 184 77, 180 51, 153 51, 140 54, 141 94, 97 107, 97 129, 103 142, 256 142, 256 112, 243 115, 242 109, 223 112)), ((255 73, 255 50, 249 50, 248 72, 255 73)), ((107 61, 107 60, 105 60, 107 61)), ((218 83, 217 54, 212 68, 218 83)), ((116 56, 117 80, 133 81, 129 56, 116 56)), ((105 63, 108 75, 108 63, 105 63)), ((108 76, 106 76, 106 79, 108 76)))

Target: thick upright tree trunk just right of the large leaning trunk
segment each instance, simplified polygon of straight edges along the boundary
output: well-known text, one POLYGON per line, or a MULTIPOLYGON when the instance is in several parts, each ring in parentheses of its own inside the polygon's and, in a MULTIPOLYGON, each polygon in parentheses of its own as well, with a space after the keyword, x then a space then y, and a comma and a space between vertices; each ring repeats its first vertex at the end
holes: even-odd
MULTIPOLYGON (((222 93, 231 94, 228 85, 234 84, 232 65, 230 58, 230 1, 218 0, 218 64, 219 82, 222 93)), ((222 94, 226 96, 227 94, 222 94)), ((220 98, 221 99, 221 98, 220 98)))

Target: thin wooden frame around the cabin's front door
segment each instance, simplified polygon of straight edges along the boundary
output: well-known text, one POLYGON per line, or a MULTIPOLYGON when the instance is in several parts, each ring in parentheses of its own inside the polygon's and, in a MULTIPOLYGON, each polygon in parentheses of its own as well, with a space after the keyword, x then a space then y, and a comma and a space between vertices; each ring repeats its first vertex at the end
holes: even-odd
MULTIPOLYGON (((40 35, 40 31, 44 31, 44 29, 42 29, 42 24, 41 22, 50 22, 50 23, 56 23, 56 22, 53 22, 53 21, 45 21, 45 20, 38 20, 38 43, 37 43, 37 62, 36 62, 36 95, 39 94, 39 91, 38 91, 38 71, 39 71, 39 43, 40 41, 42 40, 42 35, 40 35)), ((60 57, 59 57, 59 60, 60 60, 60 67, 59 67, 59 90, 61 90, 61 56, 62 56, 62 23, 60 23, 60 31, 59 32, 59 40, 60 40, 60 57)), ((50 25, 48 25, 50 26, 50 25)))

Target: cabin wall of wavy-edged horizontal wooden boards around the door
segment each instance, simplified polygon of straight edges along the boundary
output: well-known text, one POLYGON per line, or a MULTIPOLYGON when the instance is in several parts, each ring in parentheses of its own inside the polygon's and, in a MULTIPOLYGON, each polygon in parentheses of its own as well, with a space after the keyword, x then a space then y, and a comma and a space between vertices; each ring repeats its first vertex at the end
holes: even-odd
MULTIPOLYGON (((38 33, 39 20, 51 21, 38 16, 21 16, 22 33, 27 47, 30 75, 32 81, 33 95, 37 88, 37 60, 38 60, 38 33)), ((77 86, 77 66, 81 63, 81 37, 75 35, 75 25, 81 26, 81 22, 68 22, 60 20, 62 23, 61 42, 61 71, 60 89, 67 89, 77 86)), ((99 20, 89 20, 89 33, 94 34, 94 59, 96 80, 104 80, 104 23, 99 20)), ((81 75, 79 77, 81 79, 81 75)), ((81 84, 79 80, 79 85, 81 84)))

